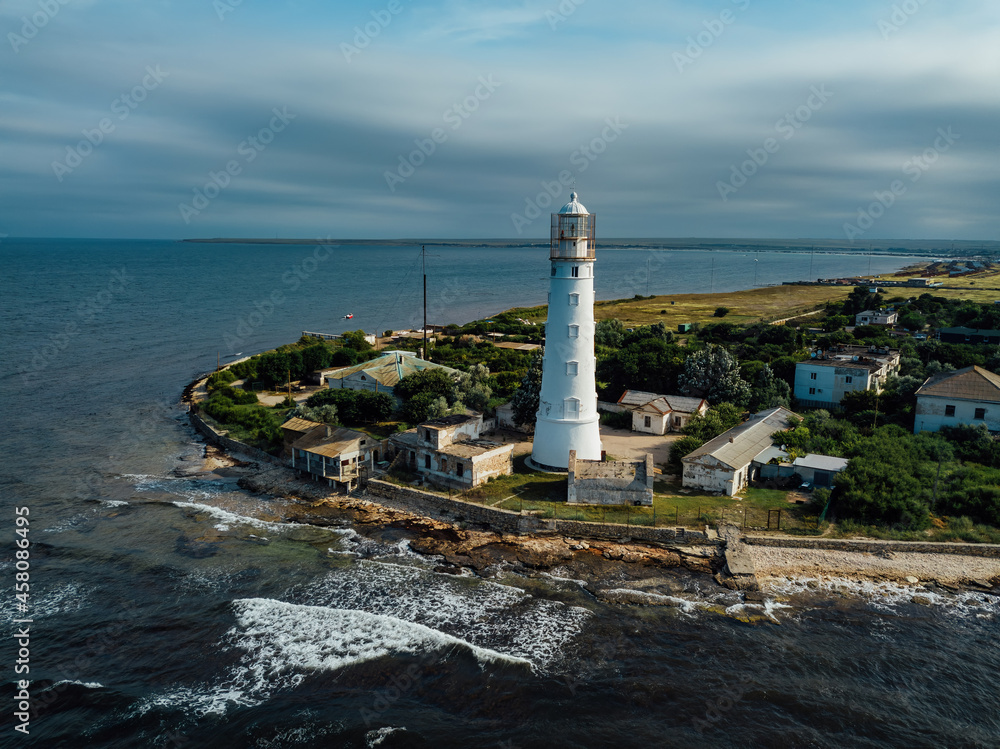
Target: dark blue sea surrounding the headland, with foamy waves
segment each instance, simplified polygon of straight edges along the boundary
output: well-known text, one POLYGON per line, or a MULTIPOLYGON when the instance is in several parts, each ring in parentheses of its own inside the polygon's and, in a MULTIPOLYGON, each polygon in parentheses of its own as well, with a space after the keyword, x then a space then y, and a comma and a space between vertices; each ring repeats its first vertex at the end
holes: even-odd
MULTIPOLYGON (((599 249, 597 295, 916 259, 776 249, 599 249)), ((416 327, 425 274, 430 321, 466 322, 543 303, 547 248, 0 242, 0 747, 1000 746, 994 598, 665 572, 664 605, 612 605, 189 475, 189 382, 416 327)))

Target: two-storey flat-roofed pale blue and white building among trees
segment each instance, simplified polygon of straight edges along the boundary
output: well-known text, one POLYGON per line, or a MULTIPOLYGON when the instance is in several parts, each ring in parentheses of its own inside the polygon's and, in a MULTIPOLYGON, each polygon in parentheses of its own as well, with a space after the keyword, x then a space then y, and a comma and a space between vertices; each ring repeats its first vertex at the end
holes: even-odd
POLYGON ((795 365, 795 398, 811 408, 836 408, 846 393, 881 390, 899 371, 899 349, 837 346, 795 365))

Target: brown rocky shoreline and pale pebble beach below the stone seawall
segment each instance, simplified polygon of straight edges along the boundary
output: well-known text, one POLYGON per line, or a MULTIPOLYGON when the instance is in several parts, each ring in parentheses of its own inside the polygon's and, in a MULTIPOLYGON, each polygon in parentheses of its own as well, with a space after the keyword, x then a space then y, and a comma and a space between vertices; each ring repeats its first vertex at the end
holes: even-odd
MULTIPOLYGON (((787 583, 813 590, 829 587, 823 581, 858 584, 890 583, 939 592, 973 591, 1000 596, 1000 558, 957 554, 854 552, 740 544, 749 556, 755 580, 746 585, 729 574, 724 548, 673 546, 572 538, 555 534, 519 535, 454 523, 393 509, 378 497, 331 494, 299 479, 294 471, 241 461, 214 445, 206 446, 204 464, 184 466, 185 475, 238 476, 241 488, 293 500, 287 522, 311 525, 349 523, 359 534, 378 537, 404 534, 414 552, 440 563, 435 571, 491 577, 509 571, 525 577, 555 576, 576 580, 597 600, 619 604, 678 605, 675 594, 690 588, 678 584, 678 574, 697 579, 696 586, 720 593, 742 591, 743 601, 762 601, 761 589, 775 590, 787 583), (726 590, 726 589, 729 590, 726 590)), ((739 577, 739 576, 737 576, 739 577)))

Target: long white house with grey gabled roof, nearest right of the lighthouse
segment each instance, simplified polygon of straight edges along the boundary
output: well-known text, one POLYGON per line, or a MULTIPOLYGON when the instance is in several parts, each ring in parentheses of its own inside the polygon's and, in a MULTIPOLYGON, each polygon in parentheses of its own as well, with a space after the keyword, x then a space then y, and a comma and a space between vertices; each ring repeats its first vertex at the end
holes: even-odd
POLYGON ((749 420, 709 440, 681 463, 683 486, 733 496, 747 485, 752 463, 773 447, 771 435, 788 429, 788 420, 798 414, 778 406, 754 414, 749 420))

